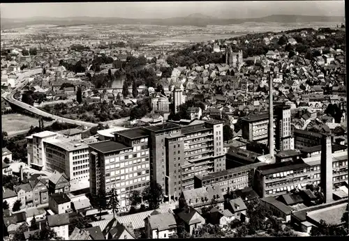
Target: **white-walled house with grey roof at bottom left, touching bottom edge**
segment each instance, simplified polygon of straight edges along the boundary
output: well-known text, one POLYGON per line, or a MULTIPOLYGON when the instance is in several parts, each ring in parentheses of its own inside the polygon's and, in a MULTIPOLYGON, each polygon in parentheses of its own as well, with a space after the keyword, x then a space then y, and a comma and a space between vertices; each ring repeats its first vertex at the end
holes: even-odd
POLYGON ((68 213, 47 216, 47 224, 63 240, 69 240, 68 225, 70 224, 68 213))

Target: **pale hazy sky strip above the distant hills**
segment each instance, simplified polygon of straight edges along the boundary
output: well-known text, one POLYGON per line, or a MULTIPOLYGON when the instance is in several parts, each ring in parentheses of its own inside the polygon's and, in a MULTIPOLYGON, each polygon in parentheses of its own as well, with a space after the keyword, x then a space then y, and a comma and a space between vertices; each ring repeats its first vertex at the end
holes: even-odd
POLYGON ((1 3, 1 18, 126 17, 168 18, 201 13, 220 18, 267 15, 344 16, 344 1, 186 1, 1 3))

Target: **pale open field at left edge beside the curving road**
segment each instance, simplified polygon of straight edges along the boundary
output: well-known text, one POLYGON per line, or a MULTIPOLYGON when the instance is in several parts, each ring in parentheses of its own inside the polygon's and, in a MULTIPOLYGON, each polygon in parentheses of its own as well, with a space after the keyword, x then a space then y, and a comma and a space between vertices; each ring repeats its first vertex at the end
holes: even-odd
POLYGON ((7 132, 9 135, 13 132, 29 130, 31 125, 33 125, 34 127, 39 125, 39 122, 36 118, 23 116, 22 114, 2 115, 1 120, 1 128, 3 132, 7 132))

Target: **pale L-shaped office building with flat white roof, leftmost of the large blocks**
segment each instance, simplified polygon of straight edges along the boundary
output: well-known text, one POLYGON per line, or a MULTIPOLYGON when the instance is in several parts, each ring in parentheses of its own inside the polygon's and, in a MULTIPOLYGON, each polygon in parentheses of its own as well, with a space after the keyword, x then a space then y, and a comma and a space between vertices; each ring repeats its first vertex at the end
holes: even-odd
POLYGON ((55 132, 27 137, 28 162, 45 171, 65 173, 68 180, 89 179, 89 147, 97 139, 76 139, 55 132))

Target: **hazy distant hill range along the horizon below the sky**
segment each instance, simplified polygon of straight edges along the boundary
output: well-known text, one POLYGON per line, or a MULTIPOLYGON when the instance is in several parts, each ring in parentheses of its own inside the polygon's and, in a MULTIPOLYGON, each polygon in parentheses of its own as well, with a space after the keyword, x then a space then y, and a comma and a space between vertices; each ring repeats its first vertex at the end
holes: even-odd
POLYGON ((119 17, 31 17, 27 19, 1 18, 1 29, 13 29, 34 24, 79 25, 79 24, 151 24, 163 26, 207 26, 242 24, 244 22, 344 22, 341 16, 305 16, 305 15, 270 15, 267 17, 246 19, 220 19, 194 13, 186 17, 166 19, 130 19, 119 17))

